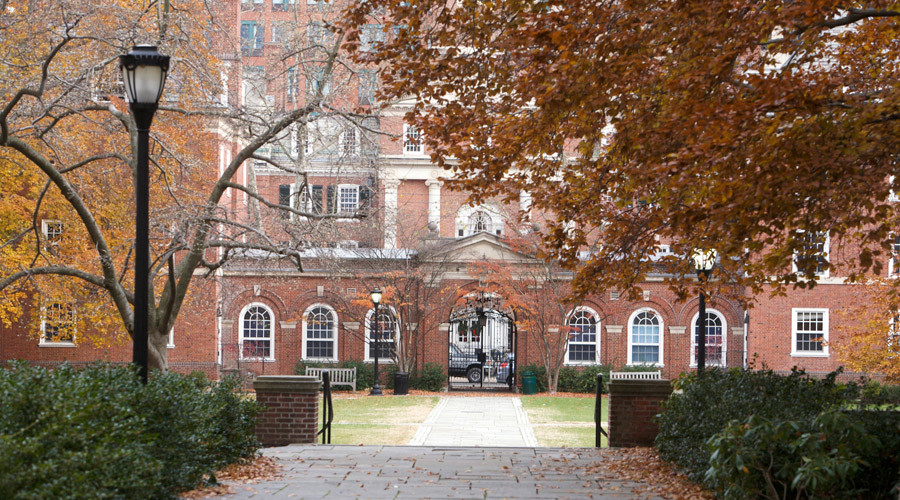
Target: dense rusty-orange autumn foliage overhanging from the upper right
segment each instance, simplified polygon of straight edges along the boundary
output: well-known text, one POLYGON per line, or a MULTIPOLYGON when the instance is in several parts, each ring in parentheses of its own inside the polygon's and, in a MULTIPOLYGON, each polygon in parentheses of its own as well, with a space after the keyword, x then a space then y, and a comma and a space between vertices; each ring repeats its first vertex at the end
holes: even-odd
POLYGON ((861 245, 842 275, 884 266, 896 2, 371 0, 348 40, 375 19, 394 36, 358 57, 385 66, 383 97, 416 98, 452 187, 555 214, 545 244, 580 293, 635 296, 651 270, 689 292, 695 248, 718 283, 814 286, 816 259, 791 264, 820 231, 861 245))

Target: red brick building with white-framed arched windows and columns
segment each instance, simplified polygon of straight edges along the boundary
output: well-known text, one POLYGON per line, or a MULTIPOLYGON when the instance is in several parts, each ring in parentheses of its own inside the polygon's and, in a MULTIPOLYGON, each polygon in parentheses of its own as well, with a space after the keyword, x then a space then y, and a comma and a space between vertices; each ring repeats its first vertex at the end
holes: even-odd
MULTIPOLYGON (((464 193, 444 186, 441 178, 448 174, 432 164, 418 132, 404 123, 412 101, 360 115, 375 108, 377 80, 371 68, 347 66, 323 79, 314 64, 292 65, 285 54, 297 51, 298 44, 309 50, 327 44, 326 22, 336 9, 332 4, 232 0, 223 5, 224 17, 233 23, 232 34, 240 41, 239 49, 223 50, 229 68, 223 77, 223 104, 290 110, 302 106, 311 92, 323 91, 333 96, 334 106, 353 113, 323 114, 263 151, 276 163, 298 167, 303 175, 260 160, 249 160, 238 173, 240 182, 252 183, 275 203, 332 217, 323 222, 278 213, 231 190, 223 209, 245 214, 247 220, 258 216, 270 236, 295 241, 304 249, 303 270, 264 252, 248 251, 212 276, 197 276, 192 298, 171 334, 170 367, 219 376, 228 370, 289 374, 300 360, 368 362, 376 343, 369 342, 372 311, 367 297, 375 287, 394 290, 382 305, 388 312, 382 334, 410 340, 403 349, 413 366, 449 366, 448 345, 463 336, 451 316, 479 281, 490 287, 472 274, 472 266, 537 265, 505 238, 520 231, 520 213, 540 220, 542 214, 529 214, 530 197, 539 194, 523 193, 518 206, 467 205, 464 193)), ((370 28, 361 46, 385 36, 379 26, 370 28)), ((219 154, 224 164, 241 139, 225 132, 226 127, 222 130, 219 154)), ((825 256, 834 253, 830 243, 823 243, 825 256)), ((776 370, 837 368, 840 362, 821 340, 842 335, 836 313, 846 307, 854 285, 845 284, 838 274, 833 271, 812 290, 754 297, 749 310, 737 300, 746 298, 745 291, 736 292, 739 297, 709 299, 707 365, 746 366, 749 361, 776 370)), ((559 279, 565 275, 560 273, 559 279)), ((642 288, 641 300, 625 300, 610 290, 559 315, 557 323, 571 326, 573 332, 566 362, 616 368, 650 364, 666 377, 693 369, 697 299, 678 302, 662 276, 649 276, 642 288)), ((64 325, 65 318, 45 318, 39 331, 25 323, 0 324, 0 360, 130 360, 128 342, 97 347, 79 343, 78 332, 50 340, 49 330, 64 325)), ((539 360, 528 333, 521 328, 517 332, 520 365, 539 360)), ((471 343, 471 331, 467 335, 471 343)))

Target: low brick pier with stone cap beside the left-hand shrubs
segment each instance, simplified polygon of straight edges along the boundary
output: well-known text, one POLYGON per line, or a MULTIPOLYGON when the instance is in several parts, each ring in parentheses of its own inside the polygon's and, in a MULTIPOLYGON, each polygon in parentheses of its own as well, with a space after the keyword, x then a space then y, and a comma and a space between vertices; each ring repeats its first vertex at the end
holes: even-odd
POLYGON ((256 438, 263 446, 315 443, 319 388, 315 377, 263 376, 253 382, 256 401, 266 407, 256 421, 256 438))

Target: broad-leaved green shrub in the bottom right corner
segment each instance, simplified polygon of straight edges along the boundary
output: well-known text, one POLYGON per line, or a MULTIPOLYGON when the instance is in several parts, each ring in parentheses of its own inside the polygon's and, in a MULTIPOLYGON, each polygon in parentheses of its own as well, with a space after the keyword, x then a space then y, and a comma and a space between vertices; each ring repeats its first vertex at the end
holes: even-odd
POLYGON ((723 498, 889 498, 900 481, 900 413, 757 415, 713 436, 707 484, 723 498))

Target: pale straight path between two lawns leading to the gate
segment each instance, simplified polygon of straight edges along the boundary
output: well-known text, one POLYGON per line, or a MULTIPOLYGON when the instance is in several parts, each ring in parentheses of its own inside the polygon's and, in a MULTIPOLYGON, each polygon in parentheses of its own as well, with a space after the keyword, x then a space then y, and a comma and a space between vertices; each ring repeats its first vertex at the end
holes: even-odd
POLYGON ((411 446, 537 446, 522 402, 514 397, 442 397, 411 446))

